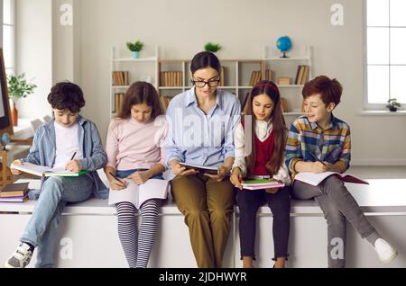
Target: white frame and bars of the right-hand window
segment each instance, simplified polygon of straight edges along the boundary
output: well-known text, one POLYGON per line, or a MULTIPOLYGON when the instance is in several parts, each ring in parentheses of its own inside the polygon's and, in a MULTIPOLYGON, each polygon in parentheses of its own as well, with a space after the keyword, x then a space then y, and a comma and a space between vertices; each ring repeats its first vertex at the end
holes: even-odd
MULTIPOLYGON (((391 65, 391 55, 389 55, 389 65, 368 65, 368 40, 367 40, 367 33, 368 33, 368 23, 367 23, 367 1, 364 0, 363 4, 363 21, 364 21, 364 110, 365 111, 387 111, 388 109, 386 108, 387 103, 369 103, 368 102, 368 66, 387 66, 389 67, 389 92, 388 92, 388 98, 391 98, 391 67, 392 66, 406 66, 405 65, 391 65)), ((389 4, 390 4, 389 0, 389 4)), ((406 0, 405 0, 406 1, 406 0)), ((389 8, 389 13, 391 13, 391 10, 389 8)), ((389 21, 391 21, 391 15, 389 15, 389 21)), ((374 27, 374 26, 371 26, 374 27)), ((389 45, 391 45, 391 27, 400 27, 400 28, 405 28, 406 26, 391 26, 391 22, 389 22, 389 45)), ((389 52, 391 52, 391 48, 389 48, 389 52)), ((406 75, 405 75, 406 78, 406 75)), ((405 93, 406 93, 406 85, 405 85, 405 93)), ((406 110, 406 104, 402 103, 401 108, 398 110, 400 111, 405 111, 406 110)))

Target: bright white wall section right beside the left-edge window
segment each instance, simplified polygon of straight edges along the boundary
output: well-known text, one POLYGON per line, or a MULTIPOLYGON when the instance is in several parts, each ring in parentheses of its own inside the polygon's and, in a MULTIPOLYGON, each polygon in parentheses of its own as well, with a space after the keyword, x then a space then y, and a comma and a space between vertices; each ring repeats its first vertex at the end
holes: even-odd
POLYGON ((18 103, 19 116, 51 114, 47 102, 52 82, 51 0, 16 0, 16 73, 25 72, 38 87, 18 103))

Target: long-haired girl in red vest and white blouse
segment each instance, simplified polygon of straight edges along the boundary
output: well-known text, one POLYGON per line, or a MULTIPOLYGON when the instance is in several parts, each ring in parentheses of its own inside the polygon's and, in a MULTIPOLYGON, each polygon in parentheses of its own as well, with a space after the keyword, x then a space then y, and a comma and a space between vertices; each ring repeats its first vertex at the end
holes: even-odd
POLYGON ((243 189, 243 178, 291 184, 283 162, 287 129, 281 111, 281 95, 271 81, 254 85, 245 107, 245 119, 235 129, 235 162, 230 177, 237 192, 240 211, 241 257, 245 268, 254 267, 255 219, 266 202, 272 210, 275 268, 283 268, 288 257, 291 199, 287 187, 263 190, 243 189), (248 135, 248 138, 245 138, 248 135), (248 144, 250 140, 251 144, 248 144), (250 149, 247 146, 252 146, 250 149))

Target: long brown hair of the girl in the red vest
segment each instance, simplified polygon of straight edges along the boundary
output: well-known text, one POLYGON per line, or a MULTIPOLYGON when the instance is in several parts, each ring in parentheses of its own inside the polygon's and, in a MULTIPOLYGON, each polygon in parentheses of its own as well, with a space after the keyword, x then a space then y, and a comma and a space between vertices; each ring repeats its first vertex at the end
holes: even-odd
POLYGON ((257 95, 260 94, 266 94, 268 95, 272 101, 273 101, 273 111, 271 113, 271 118, 272 118, 272 131, 275 135, 275 140, 273 142, 273 152, 271 159, 266 163, 265 168, 269 172, 269 174, 277 174, 279 169, 281 168, 281 165, 283 163, 283 157, 284 157, 284 152, 285 152, 285 147, 286 147, 286 139, 287 139, 287 128, 286 128, 286 123, 285 119, 283 118, 283 113, 281 110, 281 94, 279 92, 278 86, 276 86, 272 81, 268 80, 262 80, 259 83, 257 83, 254 87, 253 90, 251 91, 251 94, 249 95, 249 98, 247 99, 247 103, 245 106, 245 115, 252 115, 251 120, 252 120, 252 152, 249 156, 245 157, 246 165, 247 165, 247 170, 248 174, 252 174, 254 171, 254 164, 256 160, 256 152, 255 152, 255 147, 254 147, 254 142, 255 142, 255 116, 254 116, 254 111, 253 111, 253 102, 254 98, 257 95))

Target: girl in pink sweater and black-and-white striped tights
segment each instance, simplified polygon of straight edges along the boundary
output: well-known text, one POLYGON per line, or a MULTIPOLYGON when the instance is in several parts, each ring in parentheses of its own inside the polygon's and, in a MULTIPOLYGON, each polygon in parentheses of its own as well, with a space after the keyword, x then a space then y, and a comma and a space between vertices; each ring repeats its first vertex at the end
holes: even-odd
MULTIPOLYGON (((164 117, 158 119, 161 114, 159 95, 153 85, 136 82, 125 93, 121 111, 110 122, 107 132, 105 172, 110 184, 109 202, 115 202, 118 236, 131 268, 146 268, 148 265, 162 199, 152 198, 139 206, 141 226, 138 229, 135 216, 138 206, 134 203, 138 198, 115 197, 130 184, 142 185, 150 179, 163 180, 163 143, 167 125, 161 121, 164 117)), ((131 192, 133 196, 136 194, 131 192)))

